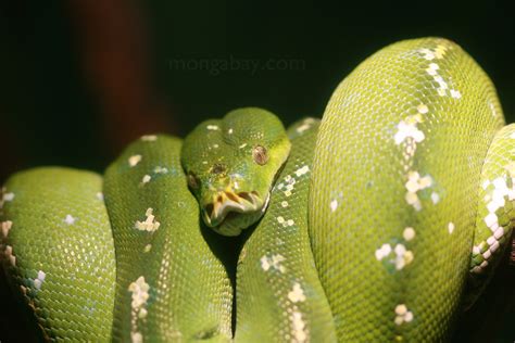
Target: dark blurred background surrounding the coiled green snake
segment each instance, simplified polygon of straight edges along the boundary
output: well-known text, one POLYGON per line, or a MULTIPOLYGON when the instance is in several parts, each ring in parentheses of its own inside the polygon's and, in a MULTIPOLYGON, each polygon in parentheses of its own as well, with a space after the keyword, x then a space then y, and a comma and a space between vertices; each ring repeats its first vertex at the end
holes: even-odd
MULTIPOLYGON (((184 136, 238 106, 266 107, 286 124, 321 116, 367 55, 423 36, 468 51, 515 120, 507 1, 0 1, 0 183, 38 165, 102 172, 142 134, 184 136)), ((514 281, 504 266, 456 341, 515 340, 514 281)), ((0 341, 12 342, 24 321, 5 294, 0 278, 0 341)))

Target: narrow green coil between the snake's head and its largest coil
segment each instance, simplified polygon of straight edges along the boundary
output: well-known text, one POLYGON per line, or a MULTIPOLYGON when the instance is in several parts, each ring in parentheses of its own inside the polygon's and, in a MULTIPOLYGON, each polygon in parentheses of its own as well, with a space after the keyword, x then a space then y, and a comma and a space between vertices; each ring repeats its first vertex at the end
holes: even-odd
MULTIPOLYGON (((236 342, 336 342, 307 236, 307 196, 318 119, 287 134, 291 152, 237 268, 236 342)), ((247 232, 246 232, 247 233, 247 232)))

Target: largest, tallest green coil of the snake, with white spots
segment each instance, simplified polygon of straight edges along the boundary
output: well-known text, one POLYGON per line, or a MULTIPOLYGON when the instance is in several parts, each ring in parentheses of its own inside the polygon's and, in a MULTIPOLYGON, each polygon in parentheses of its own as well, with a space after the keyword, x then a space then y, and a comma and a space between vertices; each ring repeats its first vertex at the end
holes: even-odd
POLYGON ((488 76, 444 39, 387 47, 338 86, 317 138, 310 234, 339 341, 449 336, 502 125, 488 76))

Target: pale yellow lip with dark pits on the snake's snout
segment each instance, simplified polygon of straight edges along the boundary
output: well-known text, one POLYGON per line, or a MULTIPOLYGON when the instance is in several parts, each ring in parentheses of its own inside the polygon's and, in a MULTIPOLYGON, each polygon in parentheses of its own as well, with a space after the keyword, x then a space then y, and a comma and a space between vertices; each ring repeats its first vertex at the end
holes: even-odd
POLYGON ((228 214, 250 213, 261 209, 263 200, 256 191, 239 192, 219 191, 213 195, 213 202, 202 211, 204 223, 209 227, 219 226, 228 214))

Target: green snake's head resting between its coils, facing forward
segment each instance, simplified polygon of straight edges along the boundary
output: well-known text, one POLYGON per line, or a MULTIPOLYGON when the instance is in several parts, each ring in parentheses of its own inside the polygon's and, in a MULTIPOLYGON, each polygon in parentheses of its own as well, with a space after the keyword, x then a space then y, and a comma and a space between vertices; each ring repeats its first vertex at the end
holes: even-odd
POLYGON ((256 107, 197 126, 184 141, 181 163, 205 225, 238 236, 258 221, 290 145, 280 120, 256 107))

